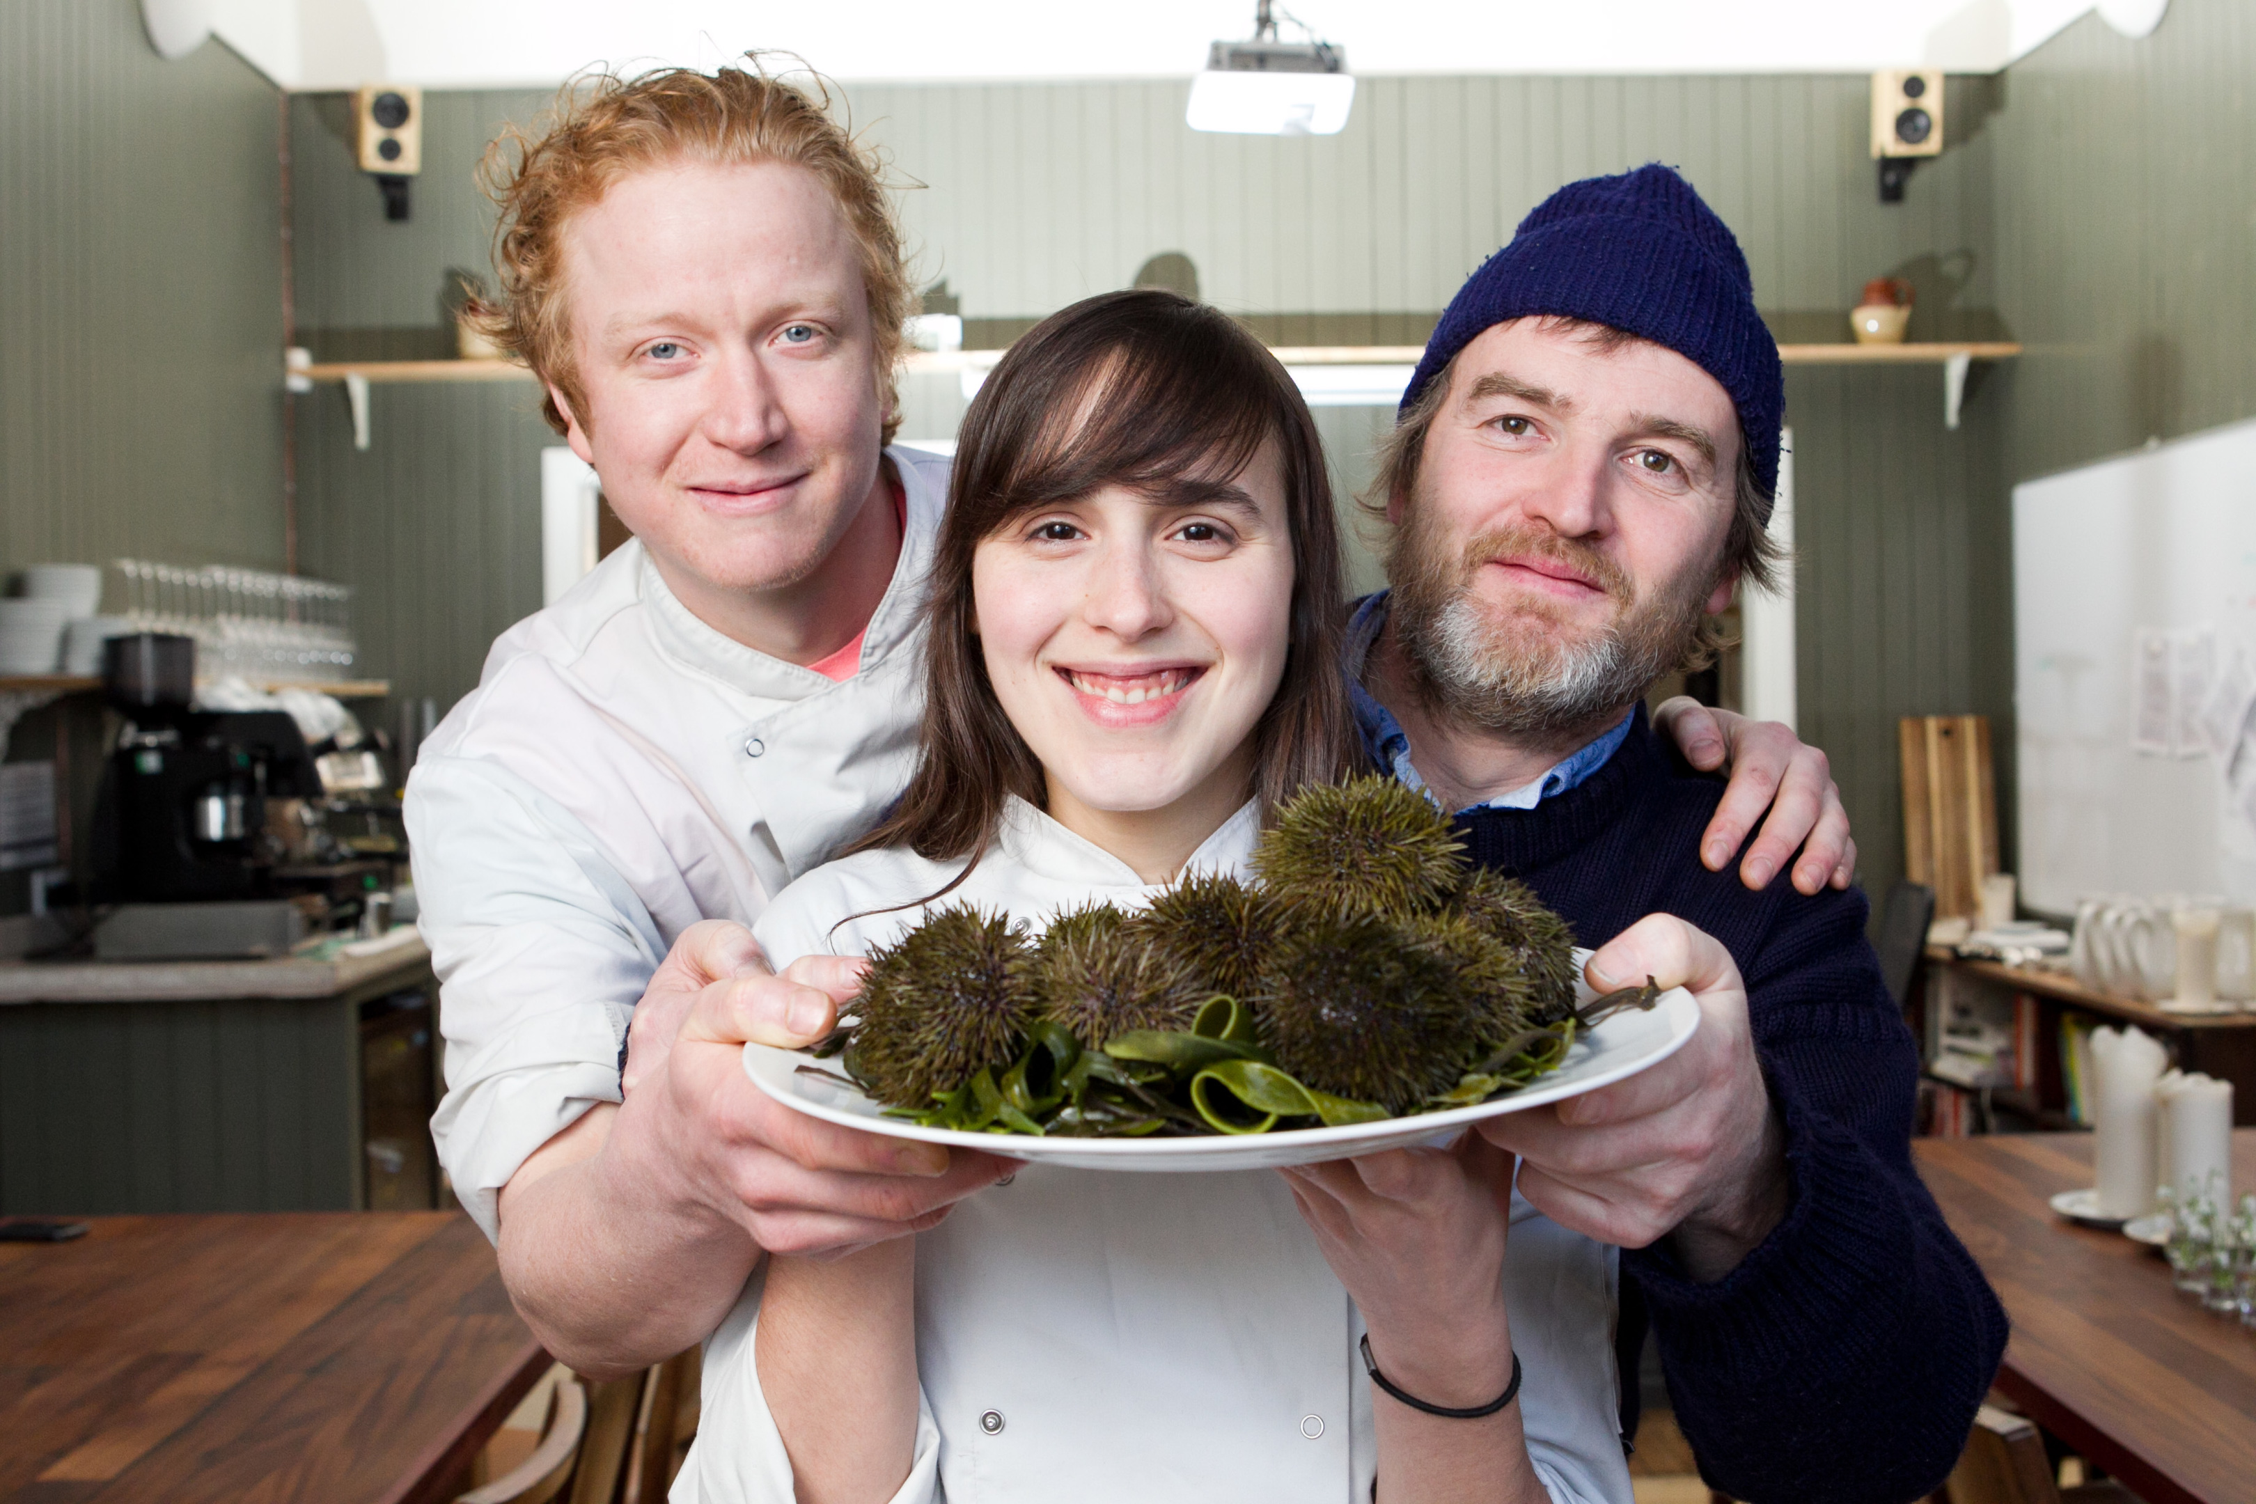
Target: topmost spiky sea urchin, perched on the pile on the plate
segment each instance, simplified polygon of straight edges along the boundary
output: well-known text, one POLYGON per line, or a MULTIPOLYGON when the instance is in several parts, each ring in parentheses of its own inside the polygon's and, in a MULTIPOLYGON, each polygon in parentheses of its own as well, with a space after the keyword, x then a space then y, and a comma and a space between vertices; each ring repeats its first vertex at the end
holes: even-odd
POLYGON ((1392 778, 1308 785, 1254 848, 1254 875, 1284 904, 1336 915, 1435 911, 1464 879, 1448 816, 1392 778))

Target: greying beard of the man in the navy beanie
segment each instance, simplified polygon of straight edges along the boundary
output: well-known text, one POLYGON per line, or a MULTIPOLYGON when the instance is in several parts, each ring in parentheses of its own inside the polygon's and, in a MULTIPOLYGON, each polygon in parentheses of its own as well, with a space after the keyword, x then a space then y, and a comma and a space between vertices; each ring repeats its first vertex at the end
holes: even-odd
POLYGON ((1457 591, 1439 609, 1396 591, 1394 631, 1442 710, 1484 731, 1566 740, 1613 719, 1676 667, 1699 631, 1699 600, 1656 602, 1642 620, 1615 622, 1588 643, 1527 631, 1512 640, 1457 591))

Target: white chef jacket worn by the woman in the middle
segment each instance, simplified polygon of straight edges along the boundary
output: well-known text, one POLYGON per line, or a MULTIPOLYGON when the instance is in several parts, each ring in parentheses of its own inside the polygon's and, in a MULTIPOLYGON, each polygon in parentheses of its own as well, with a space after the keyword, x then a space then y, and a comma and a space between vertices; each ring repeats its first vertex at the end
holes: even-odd
MULTIPOLYGON (((1191 866, 1243 870, 1257 834, 1259 807, 1245 805, 1191 866)), ((914 900, 961 866, 860 852, 792 884, 754 934, 778 965, 810 952, 866 954, 916 924, 914 900)), ((1117 857, 1011 800, 997 848, 943 902, 1042 929, 1092 897, 1142 906, 1155 893, 1117 857)), ((1615 1260, 1514 1195, 1505 1303, 1525 1364, 1518 1405, 1536 1475, 1561 1504, 1631 1499, 1615 1260)), ((760 1396, 758 1306, 756 1276, 706 1342, 702 1421, 675 1504, 794 1497, 760 1396)), ((1360 1504, 1376 1466, 1360 1335, 1354 1301, 1275 1170, 1029 1166, 916 1238, 920 1414, 896 1504, 1360 1504)))

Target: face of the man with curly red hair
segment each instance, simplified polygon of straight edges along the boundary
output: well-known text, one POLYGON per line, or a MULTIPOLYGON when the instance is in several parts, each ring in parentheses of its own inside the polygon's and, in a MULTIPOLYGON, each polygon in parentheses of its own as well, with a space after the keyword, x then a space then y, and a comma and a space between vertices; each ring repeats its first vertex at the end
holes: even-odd
MULTIPOLYGON (((677 593, 805 580, 878 476, 860 255, 781 162, 627 174, 564 225, 573 451, 677 593)), ((564 408, 562 395, 557 406, 564 408)))

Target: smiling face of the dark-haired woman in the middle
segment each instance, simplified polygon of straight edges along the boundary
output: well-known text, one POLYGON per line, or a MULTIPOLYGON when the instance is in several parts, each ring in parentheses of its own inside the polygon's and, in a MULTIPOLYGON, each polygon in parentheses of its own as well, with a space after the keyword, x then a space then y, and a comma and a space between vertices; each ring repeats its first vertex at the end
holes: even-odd
POLYGON ((1293 609, 1275 446, 1230 492, 1171 505, 1103 487, 1015 519, 972 555, 988 679, 1054 805, 1250 798, 1252 733, 1284 679, 1293 609))

